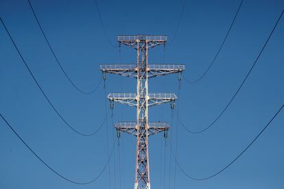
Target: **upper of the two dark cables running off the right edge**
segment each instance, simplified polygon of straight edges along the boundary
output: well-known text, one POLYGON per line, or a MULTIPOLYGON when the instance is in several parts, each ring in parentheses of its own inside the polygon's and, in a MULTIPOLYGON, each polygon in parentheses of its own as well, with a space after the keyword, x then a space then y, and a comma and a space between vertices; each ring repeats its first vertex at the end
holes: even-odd
POLYGON ((265 40, 265 43, 263 45, 263 47, 261 48, 261 51, 259 52, 259 55, 257 55, 257 58, 255 59, 255 62, 252 64, 252 66, 250 67, 250 71, 248 71, 248 74, 246 75, 246 77, 244 78, 244 80, 241 82, 241 85, 239 86, 239 88, 237 88, 237 91, 235 92, 235 94, 233 95, 232 99, 230 99, 230 101, 228 102, 228 104, 226 105, 226 107, 224 108, 224 110, 222 110, 222 112, 215 118, 215 120, 210 123, 207 127, 205 127, 204 129, 200 130, 200 131, 191 131, 190 129, 188 129, 184 123, 182 123, 179 114, 178 115, 178 119, 182 125, 182 127, 189 132, 190 134, 200 134, 203 131, 206 131, 207 129, 209 129, 212 125, 214 125, 216 123, 216 121, 222 116, 222 114, 227 110, 228 106, 230 105, 230 103, 232 103, 232 101, 235 99, 235 97, 237 96, 237 94, 239 93, 239 90, 241 90, 242 86, 244 86, 244 83, 246 82, 246 79, 248 79, 248 76, 250 75, 250 73, 252 72, 252 69, 255 67, 255 64, 257 64, 257 61, 259 60, 259 57, 261 56, 261 53, 263 52, 263 50, 265 49, 266 45, 268 44, 268 41, 270 40, 276 26, 278 25, 281 16, 283 15, 284 10, 281 12, 281 15, 279 16, 279 18, 277 19, 272 31, 270 32, 270 35, 268 36, 268 38, 265 40))

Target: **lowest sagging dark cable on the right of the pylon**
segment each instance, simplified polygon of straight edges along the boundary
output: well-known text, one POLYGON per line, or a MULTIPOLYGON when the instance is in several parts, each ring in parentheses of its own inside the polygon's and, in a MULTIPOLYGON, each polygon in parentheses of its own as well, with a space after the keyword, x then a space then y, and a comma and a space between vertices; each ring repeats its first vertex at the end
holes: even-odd
MULTIPOLYGON (((219 175, 220 173, 222 173, 223 171, 226 170, 226 168, 228 168, 230 165, 232 165, 237 159, 239 159, 239 157, 241 157, 241 155, 243 155, 249 148, 250 146, 255 142, 255 140, 257 140, 257 138, 259 138, 259 136, 261 136, 261 134, 263 134, 263 131, 265 131, 265 129, 267 129, 267 127, 270 125, 270 123, 272 123, 272 121, 274 120, 274 118, 279 114, 279 112, 283 109, 284 104, 281 106, 281 108, 279 108, 279 110, 276 112, 276 114, 274 114, 274 116, 272 116, 272 118, 270 119, 270 121, 268 121, 268 123, 265 125, 265 127, 263 127, 263 129, 259 132, 259 134, 254 138, 254 140, 252 140, 252 142, 250 142, 250 144, 248 144, 248 146, 241 151, 241 153, 239 153, 239 155, 237 155, 237 157, 235 157, 235 159, 233 161, 231 161, 229 164, 227 164, 224 168, 222 168, 220 171, 217 171, 216 173, 214 173, 213 175, 209 176, 209 177, 192 177, 190 176, 187 172, 185 172, 185 170, 182 168, 182 166, 180 166, 180 164, 178 163, 178 161, 176 160, 176 156, 174 155, 173 150, 171 149, 171 154, 174 156, 174 159, 176 160, 176 164, 178 166, 178 168, 180 168, 180 171, 187 176, 189 179, 193 179, 193 180, 197 180, 197 181, 202 181, 202 180, 206 180, 206 179, 211 179, 212 177, 215 177, 216 175, 219 175)), ((171 146, 170 146, 171 147, 171 146)))

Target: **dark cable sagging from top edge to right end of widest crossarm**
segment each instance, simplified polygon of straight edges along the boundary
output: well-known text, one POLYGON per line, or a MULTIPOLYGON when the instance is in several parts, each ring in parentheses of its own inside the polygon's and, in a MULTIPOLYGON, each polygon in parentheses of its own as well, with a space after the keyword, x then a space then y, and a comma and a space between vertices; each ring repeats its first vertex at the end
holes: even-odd
POLYGON ((206 73, 208 73, 209 69, 211 68, 211 66, 213 65, 213 63, 214 63, 215 60, 217 59, 217 56, 219 55, 221 49, 223 48, 223 46, 224 46, 224 44, 225 44, 225 42, 226 42, 226 39, 228 38, 228 34, 230 34, 230 30, 232 29, 232 27, 233 27, 233 25, 234 25, 234 23, 235 23, 235 20, 236 20, 236 18, 237 18, 237 15, 239 14, 239 10, 241 9, 241 5, 243 4, 243 1, 244 1, 244 0, 241 0, 241 3, 239 3, 239 8, 237 9, 237 12, 236 12, 236 14, 235 14, 235 16, 234 16, 234 18, 233 18, 232 23, 230 23, 230 27, 229 27, 229 29, 228 29, 228 31, 227 31, 227 33, 226 33, 226 36, 225 36, 225 38, 224 38, 224 40, 223 40, 223 42, 222 42, 220 48, 218 49, 218 51, 217 51, 215 57, 213 58, 213 60, 212 60, 211 63, 209 64, 209 66, 206 68, 206 70, 204 71, 204 73, 202 73, 202 75, 201 75, 200 77, 198 77, 198 79, 196 79, 196 80, 190 81, 189 79, 187 79, 186 77, 184 77, 184 78, 185 78, 185 81, 187 81, 187 83, 189 83, 189 84, 196 84, 198 81, 200 81, 200 80, 206 75, 206 73))

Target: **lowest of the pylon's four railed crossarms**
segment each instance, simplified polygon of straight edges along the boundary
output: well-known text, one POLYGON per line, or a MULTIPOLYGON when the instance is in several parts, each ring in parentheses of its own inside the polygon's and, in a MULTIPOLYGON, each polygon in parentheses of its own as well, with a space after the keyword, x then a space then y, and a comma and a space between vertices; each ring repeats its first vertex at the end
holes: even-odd
MULTIPOLYGON (((131 134, 133 136, 137 136, 137 123, 134 121, 119 121, 115 123, 115 129, 117 131, 123 131, 127 134, 131 134)), ((162 131, 168 131, 169 124, 165 122, 149 122, 148 123, 148 136, 152 136, 154 134, 158 134, 162 131)))

